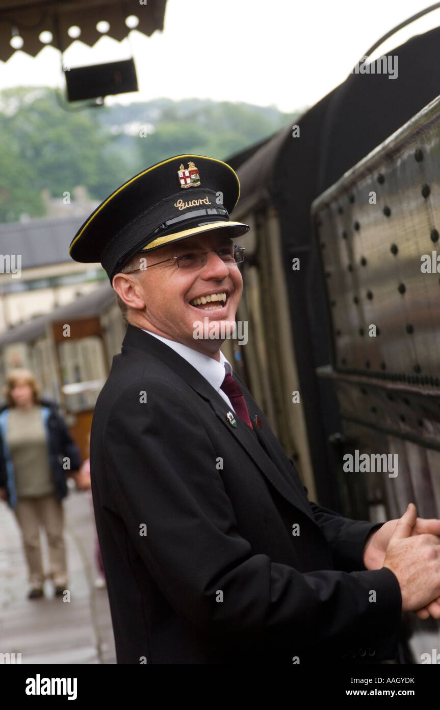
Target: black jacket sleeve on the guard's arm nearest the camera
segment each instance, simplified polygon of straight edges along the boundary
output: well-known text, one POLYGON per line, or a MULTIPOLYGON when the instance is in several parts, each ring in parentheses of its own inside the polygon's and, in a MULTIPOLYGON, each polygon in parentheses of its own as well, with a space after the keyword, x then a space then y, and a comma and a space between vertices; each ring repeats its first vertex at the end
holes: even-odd
POLYGON ((311 639, 393 648, 401 616, 393 572, 303 574, 254 554, 239 534, 203 421, 169 383, 144 378, 120 395, 103 451, 102 505, 117 506, 162 594, 201 633, 228 643, 262 635, 269 645, 296 648, 311 639))

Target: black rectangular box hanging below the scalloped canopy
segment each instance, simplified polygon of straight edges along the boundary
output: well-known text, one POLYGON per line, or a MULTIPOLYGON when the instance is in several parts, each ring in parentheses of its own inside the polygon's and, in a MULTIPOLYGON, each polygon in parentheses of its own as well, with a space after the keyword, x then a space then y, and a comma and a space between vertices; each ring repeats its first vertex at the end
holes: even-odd
POLYGON ((138 88, 135 62, 132 59, 64 69, 64 75, 69 101, 127 94, 138 88))

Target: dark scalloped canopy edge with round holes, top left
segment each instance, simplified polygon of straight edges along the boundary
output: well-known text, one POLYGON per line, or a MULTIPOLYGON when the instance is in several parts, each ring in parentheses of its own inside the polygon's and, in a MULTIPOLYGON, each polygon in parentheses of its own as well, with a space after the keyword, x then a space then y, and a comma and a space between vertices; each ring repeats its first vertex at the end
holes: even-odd
POLYGON ((90 47, 104 35, 123 40, 164 28, 167 0, 0 0, 0 60, 16 50, 33 57, 49 44, 62 52, 78 39, 90 47), (98 25, 98 28, 96 27, 98 25), (12 45, 11 45, 12 40, 12 45))

